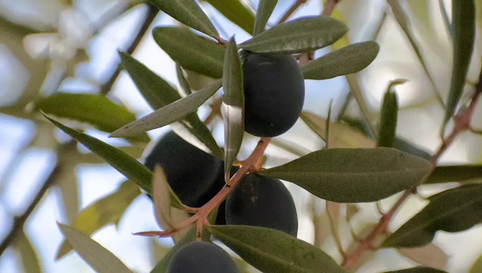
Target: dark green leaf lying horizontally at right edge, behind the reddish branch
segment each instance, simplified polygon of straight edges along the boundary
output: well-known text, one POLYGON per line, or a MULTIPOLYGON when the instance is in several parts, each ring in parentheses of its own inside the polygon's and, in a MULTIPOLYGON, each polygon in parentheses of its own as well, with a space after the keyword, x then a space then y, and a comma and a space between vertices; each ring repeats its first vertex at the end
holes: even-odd
POLYGON ((482 165, 437 166, 426 184, 464 182, 482 179, 482 165))

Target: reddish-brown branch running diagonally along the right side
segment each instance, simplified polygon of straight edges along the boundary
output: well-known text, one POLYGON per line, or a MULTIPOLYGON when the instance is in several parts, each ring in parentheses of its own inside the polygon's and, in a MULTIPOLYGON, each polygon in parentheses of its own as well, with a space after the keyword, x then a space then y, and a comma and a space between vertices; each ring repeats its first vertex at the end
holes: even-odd
MULTIPOLYGON (((482 79, 482 73, 480 74, 480 79, 482 79)), ((403 193, 403 195, 400 196, 400 198, 392 206, 392 208, 380 218, 378 224, 375 226, 373 231, 365 239, 358 242, 358 247, 355 250, 344 256, 342 263, 343 267, 347 269, 354 267, 360 257, 362 257, 365 252, 373 251, 376 249, 376 246, 374 245, 375 240, 387 234, 388 224, 390 223, 395 213, 398 211, 398 208, 401 206, 401 204, 403 204, 411 194, 416 193, 418 185, 423 184, 427 180, 427 178, 435 169, 440 156, 454 142, 456 137, 460 133, 470 130, 470 120, 474 114, 478 98, 482 93, 482 80, 480 79, 469 106, 465 110, 461 111, 460 114, 454 116, 454 127, 452 129, 452 132, 446 138, 442 139, 440 146, 437 149, 437 152, 432 156, 430 160, 430 162, 432 163, 431 170, 420 180, 417 185, 408 188, 403 193)))

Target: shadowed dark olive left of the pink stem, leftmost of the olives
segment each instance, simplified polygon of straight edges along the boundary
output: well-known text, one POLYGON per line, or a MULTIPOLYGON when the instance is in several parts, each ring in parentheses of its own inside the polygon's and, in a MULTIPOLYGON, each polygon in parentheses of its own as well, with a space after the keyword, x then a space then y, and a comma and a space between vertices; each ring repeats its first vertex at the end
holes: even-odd
MULTIPOLYGON (((163 135, 154 145, 144 163, 154 170, 155 164, 163 167, 167 181, 180 201, 187 206, 200 207, 219 188, 218 176, 224 162, 198 149, 173 131, 163 135)), ((217 193, 217 192, 216 192, 217 193)))

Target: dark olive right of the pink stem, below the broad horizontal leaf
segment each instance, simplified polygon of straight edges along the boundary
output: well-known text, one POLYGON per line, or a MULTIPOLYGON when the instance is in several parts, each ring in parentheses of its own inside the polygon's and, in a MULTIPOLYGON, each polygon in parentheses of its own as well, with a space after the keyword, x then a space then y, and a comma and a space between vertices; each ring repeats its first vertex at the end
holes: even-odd
POLYGON ((293 197, 278 179, 246 175, 226 200, 228 225, 262 226, 296 237, 298 216, 293 197))

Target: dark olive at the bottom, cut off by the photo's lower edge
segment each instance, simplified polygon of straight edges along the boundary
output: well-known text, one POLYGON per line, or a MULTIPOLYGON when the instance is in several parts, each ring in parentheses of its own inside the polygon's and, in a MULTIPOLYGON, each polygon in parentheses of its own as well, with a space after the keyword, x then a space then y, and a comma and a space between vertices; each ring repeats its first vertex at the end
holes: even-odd
POLYGON ((239 273, 229 254, 214 243, 190 242, 177 250, 167 273, 239 273))

